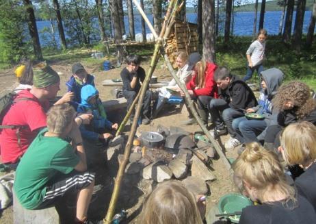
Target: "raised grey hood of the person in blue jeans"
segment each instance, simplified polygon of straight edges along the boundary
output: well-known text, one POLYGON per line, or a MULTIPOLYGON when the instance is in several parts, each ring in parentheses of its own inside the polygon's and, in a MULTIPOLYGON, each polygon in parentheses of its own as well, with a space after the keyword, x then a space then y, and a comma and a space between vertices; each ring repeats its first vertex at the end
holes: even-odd
POLYGON ((283 81, 283 73, 280 69, 272 68, 261 72, 261 77, 267 85, 267 98, 272 99, 283 81))

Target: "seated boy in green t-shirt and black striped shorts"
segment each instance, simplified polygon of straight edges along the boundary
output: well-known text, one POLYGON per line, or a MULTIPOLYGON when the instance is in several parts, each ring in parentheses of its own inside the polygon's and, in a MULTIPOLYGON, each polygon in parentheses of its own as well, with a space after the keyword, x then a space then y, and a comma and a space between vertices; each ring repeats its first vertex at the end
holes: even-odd
POLYGON ((68 103, 49 110, 47 128, 40 131, 18 164, 14 192, 24 208, 38 210, 53 205, 66 192, 79 190, 76 223, 84 223, 94 174, 83 172, 87 168, 85 149, 75 114, 68 103), (73 140, 73 146, 66 138, 73 140))

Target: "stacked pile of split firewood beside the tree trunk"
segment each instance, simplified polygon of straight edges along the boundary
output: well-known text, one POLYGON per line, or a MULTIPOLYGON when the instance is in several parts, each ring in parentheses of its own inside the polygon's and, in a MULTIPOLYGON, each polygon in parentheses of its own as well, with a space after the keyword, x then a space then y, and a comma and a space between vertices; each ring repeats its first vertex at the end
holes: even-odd
POLYGON ((175 67, 176 52, 185 51, 189 55, 198 51, 198 25, 187 23, 186 21, 176 21, 174 30, 170 34, 167 45, 166 54, 170 62, 175 67))

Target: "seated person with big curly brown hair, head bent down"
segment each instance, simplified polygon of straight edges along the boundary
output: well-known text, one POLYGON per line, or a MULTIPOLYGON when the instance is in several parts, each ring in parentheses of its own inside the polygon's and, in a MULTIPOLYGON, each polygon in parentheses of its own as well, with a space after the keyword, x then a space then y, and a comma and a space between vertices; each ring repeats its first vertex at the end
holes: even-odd
POLYGON ((291 123, 310 121, 316 124, 316 102, 311 97, 311 89, 302 82, 289 82, 279 88, 272 101, 274 108, 279 110, 278 125, 267 128, 265 147, 277 149, 280 146, 280 131, 291 123))

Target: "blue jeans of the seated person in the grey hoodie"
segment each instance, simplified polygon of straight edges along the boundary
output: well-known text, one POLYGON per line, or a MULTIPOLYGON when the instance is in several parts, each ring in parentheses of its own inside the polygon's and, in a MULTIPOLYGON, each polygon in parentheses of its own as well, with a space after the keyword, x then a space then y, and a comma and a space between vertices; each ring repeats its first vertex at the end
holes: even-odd
POLYGON ((237 138, 242 143, 259 142, 256 136, 267 127, 265 121, 248 120, 245 116, 234 119, 232 127, 237 134, 237 138))

